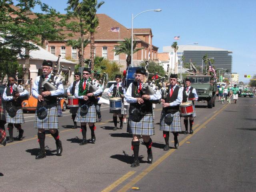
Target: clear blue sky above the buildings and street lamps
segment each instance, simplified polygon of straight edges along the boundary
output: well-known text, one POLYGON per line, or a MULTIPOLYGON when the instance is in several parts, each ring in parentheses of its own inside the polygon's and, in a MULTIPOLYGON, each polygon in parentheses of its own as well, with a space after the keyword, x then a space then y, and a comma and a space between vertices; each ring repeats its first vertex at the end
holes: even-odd
MULTIPOLYGON (((67 0, 41 1, 65 13, 67 0)), ((180 36, 183 45, 198 42, 232 51, 233 72, 240 74, 239 80, 248 82, 244 74, 256 74, 255 0, 105 0, 97 13, 131 28, 132 13, 158 8, 162 11, 145 12, 134 19, 134 28, 152 29, 158 52, 180 36)))

